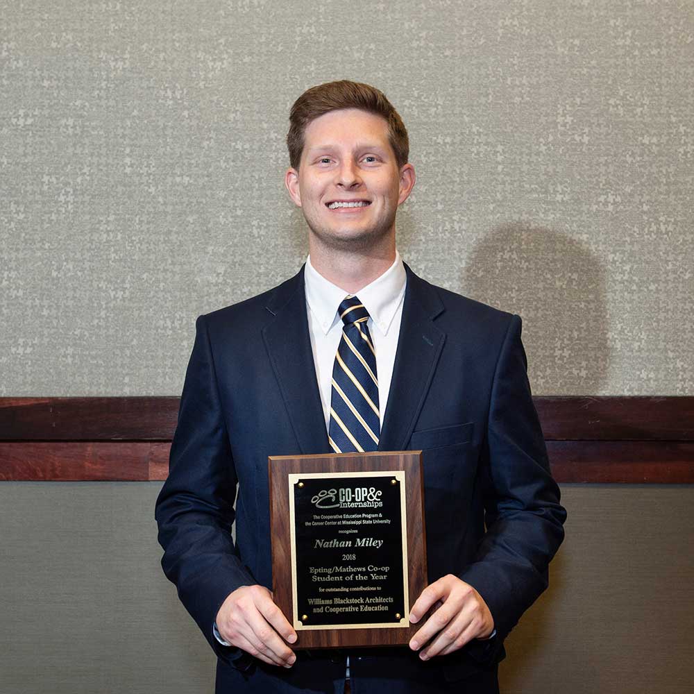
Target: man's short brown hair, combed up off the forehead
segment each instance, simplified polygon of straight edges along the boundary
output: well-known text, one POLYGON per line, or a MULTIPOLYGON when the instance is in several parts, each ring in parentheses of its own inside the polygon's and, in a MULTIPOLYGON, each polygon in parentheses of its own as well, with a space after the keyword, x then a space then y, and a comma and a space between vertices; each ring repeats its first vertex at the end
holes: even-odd
POLYGON ((384 118, 388 124, 388 139, 395 152, 398 167, 407 164, 407 128, 386 95, 371 85, 340 80, 311 87, 294 101, 289 112, 287 133, 289 163, 294 169, 298 169, 301 160, 306 126, 319 116, 341 108, 359 108, 384 118))

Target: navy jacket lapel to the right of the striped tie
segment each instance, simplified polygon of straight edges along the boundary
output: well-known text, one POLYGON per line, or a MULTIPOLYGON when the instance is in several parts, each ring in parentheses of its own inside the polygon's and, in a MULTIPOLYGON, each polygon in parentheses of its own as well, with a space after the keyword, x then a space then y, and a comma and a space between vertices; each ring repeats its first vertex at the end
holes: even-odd
POLYGON ((405 450, 446 339, 433 322, 443 311, 437 291, 407 264, 405 270, 403 320, 378 450, 405 450))

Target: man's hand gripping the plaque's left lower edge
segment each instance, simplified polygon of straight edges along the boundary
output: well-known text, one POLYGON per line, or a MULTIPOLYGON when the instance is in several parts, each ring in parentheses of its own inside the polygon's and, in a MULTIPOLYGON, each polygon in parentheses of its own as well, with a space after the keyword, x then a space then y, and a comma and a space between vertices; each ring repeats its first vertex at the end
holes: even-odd
POLYGON ((285 641, 294 643, 296 632, 264 586, 242 586, 230 593, 216 622, 219 634, 231 645, 270 665, 294 665, 296 656, 285 641))

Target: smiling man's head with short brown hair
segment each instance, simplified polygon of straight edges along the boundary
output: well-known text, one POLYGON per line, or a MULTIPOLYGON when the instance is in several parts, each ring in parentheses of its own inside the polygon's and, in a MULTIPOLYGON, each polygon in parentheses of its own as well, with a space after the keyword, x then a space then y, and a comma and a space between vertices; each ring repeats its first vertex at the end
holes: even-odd
POLYGON ((304 92, 290 121, 285 185, 309 226, 311 256, 394 255, 396 212, 415 178, 391 103, 369 85, 331 82, 304 92))

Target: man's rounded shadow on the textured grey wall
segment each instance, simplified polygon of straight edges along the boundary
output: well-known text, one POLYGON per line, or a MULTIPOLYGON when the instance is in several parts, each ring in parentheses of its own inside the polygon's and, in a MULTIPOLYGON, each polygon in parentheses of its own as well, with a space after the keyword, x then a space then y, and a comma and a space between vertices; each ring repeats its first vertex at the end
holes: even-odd
POLYGON ((607 384, 605 272, 576 239, 526 223, 475 244, 463 293, 523 319, 530 382, 543 395, 598 395, 607 384))

